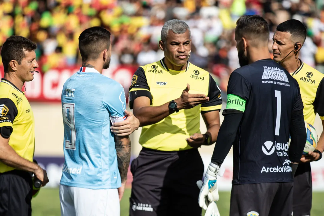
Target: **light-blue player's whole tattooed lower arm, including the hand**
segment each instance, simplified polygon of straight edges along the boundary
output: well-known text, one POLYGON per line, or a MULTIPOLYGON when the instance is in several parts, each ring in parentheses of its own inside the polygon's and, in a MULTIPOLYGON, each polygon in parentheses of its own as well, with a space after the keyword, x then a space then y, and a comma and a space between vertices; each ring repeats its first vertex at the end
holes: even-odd
POLYGON ((118 169, 121 175, 121 187, 118 188, 119 200, 121 200, 125 190, 127 171, 131 160, 131 140, 129 136, 115 136, 115 148, 117 152, 118 169))

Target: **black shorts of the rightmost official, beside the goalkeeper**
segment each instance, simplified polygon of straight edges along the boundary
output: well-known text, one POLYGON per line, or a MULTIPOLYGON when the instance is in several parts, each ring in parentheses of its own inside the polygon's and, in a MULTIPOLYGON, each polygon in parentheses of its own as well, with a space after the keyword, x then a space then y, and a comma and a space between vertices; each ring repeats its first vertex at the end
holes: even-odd
POLYGON ((310 215, 312 208, 312 171, 310 163, 299 163, 294 177, 294 216, 310 215))

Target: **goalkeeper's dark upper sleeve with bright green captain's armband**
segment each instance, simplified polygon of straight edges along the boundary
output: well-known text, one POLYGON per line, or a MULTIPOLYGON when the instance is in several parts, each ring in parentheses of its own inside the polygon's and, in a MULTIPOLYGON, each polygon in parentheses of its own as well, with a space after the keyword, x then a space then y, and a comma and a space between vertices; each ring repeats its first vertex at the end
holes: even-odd
POLYGON ((226 109, 223 110, 223 115, 244 113, 250 91, 250 84, 245 77, 234 71, 228 80, 227 102, 226 109))

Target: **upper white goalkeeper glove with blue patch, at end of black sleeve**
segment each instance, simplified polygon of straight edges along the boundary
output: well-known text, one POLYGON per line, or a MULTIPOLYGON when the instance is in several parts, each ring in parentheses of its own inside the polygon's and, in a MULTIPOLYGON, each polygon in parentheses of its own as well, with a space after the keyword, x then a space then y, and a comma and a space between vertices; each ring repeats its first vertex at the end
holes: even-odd
POLYGON ((198 198, 199 206, 204 210, 207 209, 209 202, 217 201, 219 199, 217 187, 217 174, 219 171, 220 166, 213 163, 209 164, 198 198))

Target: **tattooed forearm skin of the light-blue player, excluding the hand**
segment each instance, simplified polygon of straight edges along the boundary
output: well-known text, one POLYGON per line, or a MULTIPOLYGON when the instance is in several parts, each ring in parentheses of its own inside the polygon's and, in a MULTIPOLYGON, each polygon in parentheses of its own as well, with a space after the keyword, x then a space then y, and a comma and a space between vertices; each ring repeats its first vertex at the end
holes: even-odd
POLYGON ((127 141, 116 140, 115 148, 117 152, 118 169, 121 175, 121 182, 127 180, 127 171, 129 162, 131 160, 131 141, 128 138, 127 141))

